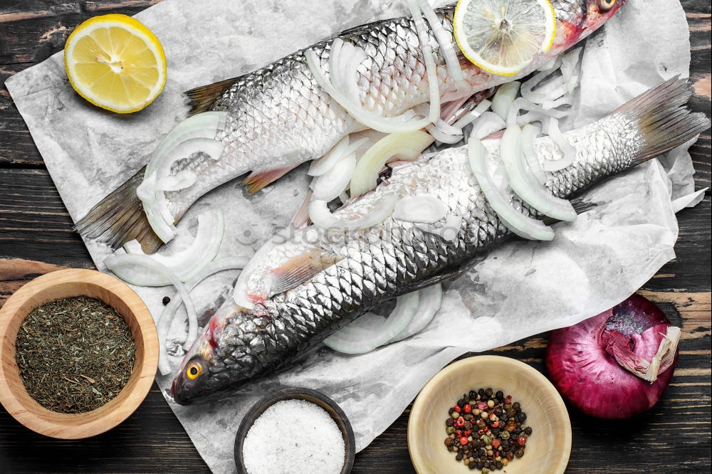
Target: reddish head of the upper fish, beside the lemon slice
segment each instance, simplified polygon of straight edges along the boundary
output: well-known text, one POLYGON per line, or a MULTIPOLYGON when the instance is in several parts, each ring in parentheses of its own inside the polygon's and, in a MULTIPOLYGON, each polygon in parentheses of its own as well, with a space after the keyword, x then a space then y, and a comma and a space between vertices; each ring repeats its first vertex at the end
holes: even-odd
POLYGON ((596 31, 626 0, 553 0, 556 39, 548 56, 558 55, 596 31))

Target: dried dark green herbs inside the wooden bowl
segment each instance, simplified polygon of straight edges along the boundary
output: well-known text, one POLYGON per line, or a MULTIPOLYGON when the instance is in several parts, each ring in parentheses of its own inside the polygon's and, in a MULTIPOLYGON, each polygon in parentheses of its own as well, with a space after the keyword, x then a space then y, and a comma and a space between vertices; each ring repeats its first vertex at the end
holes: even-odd
POLYGON ((35 308, 15 341, 27 393, 60 413, 98 409, 117 396, 131 376, 135 352, 124 318, 85 296, 35 308))

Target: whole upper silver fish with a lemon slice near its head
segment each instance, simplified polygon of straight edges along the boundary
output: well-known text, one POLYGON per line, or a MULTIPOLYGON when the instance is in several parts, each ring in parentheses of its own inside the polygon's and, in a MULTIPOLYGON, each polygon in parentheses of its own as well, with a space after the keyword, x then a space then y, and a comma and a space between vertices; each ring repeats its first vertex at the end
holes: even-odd
MULTIPOLYGON (((487 73, 461 56, 466 80, 459 85, 449 77, 439 45, 430 32, 429 46, 438 65, 441 101, 466 98, 527 75, 586 38, 624 3, 625 0, 553 0, 557 34, 548 53, 536 56, 520 74, 508 77, 487 73)), ((453 30, 454 9, 452 4, 436 11, 449 33, 453 30)), ((424 58, 410 16, 350 28, 335 38, 366 53, 367 58, 358 68, 358 87, 367 110, 391 117, 429 100, 424 58)), ((332 43, 330 39, 310 46, 327 72, 332 43)), ((459 51, 452 37, 451 43, 459 51)), ((191 114, 227 112, 226 124, 215 137, 226 146, 217 160, 198 154, 174 165, 174 174, 190 169, 198 175, 197 182, 189 188, 166 193, 175 222, 200 196, 226 181, 251 172, 244 181, 248 191, 258 191, 300 163, 323 156, 345 135, 365 129, 318 85, 306 64, 305 51, 253 73, 186 93, 192 100, 191 114)), ((96 204, 75 228, 83 236, 112 248, 137 239, 145 251, 156 251, 162 242, 152 232, 136 196, 143 175, 142 169, 96 204)))

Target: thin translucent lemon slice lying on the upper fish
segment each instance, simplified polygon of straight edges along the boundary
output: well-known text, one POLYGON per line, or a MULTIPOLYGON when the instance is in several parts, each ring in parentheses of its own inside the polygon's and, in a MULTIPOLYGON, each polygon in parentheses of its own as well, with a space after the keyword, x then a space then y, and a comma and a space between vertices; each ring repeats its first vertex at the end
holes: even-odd
POLYGON ((549 51, 556 15, 549 0, 459 0, 455 41, 472 63, 497 75, 515 75, 535 54, 549 51))

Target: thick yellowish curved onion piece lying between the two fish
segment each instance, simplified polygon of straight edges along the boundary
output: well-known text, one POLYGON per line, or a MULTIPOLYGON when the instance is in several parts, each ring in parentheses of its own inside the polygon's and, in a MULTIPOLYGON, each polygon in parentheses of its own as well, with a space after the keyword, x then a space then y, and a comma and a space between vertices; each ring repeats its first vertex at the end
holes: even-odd
POLYGON ((432 142, 433 137, 422 130, 392 133, 379 139, 356 164, 350 184, 351 196, 359 196, 374 189, 378 174, 389 159, 417 159, 432 142))

